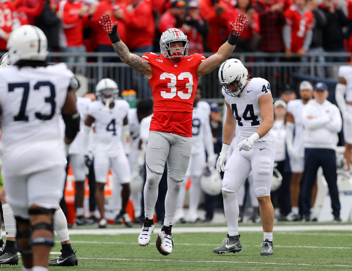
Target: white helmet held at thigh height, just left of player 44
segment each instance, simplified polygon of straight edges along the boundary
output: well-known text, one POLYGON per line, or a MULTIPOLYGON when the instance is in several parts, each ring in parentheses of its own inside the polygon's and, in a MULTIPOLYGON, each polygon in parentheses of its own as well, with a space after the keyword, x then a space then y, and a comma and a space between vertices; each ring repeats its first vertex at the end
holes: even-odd
POLYGON ((205 174, 200 178, 200 187, 209 195, 219 195, 222 189, 220 173, 215 169, 206 168, 205 174))

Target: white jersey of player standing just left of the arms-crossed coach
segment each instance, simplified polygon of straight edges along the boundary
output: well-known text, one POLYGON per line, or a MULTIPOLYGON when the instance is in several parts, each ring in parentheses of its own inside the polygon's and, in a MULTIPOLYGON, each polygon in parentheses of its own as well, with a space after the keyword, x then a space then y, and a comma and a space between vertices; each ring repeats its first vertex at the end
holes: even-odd
POLYGON ((287 103, 287 113, 293 115, 295 124, 295 136, 293 138, 293 147, 298 152, 298 154, 304 156, 304 146, 303 146, 303 107, 304 104, 301 99, 291 100, 287 103))

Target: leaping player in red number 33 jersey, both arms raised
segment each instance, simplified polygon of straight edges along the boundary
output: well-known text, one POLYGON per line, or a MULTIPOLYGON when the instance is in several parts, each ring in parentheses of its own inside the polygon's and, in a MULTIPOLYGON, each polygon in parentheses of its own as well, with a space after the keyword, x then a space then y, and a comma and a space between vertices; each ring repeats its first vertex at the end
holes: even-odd
MULTIPOLYGON (((188 55, 187 36, 176 28, 167 29, 160 38, 161 55, 130 53, 117 32, 117 22, 102 15, 100 25, 109 35, 121 60, 139 73, 147 75, 154 98, 154 114, 146 150, 147 178, 144 187, 145 221, 138 244, 146 246, 154 231, 153 212, 158 197, 158 184, 168 163, 168 191, 165 197, 164 226, 159 232, 160 250, 172 251, 171 227, 177 210, 181 182, 191 156, 193 100, 199 77, 210 73, 232 53, 247 20, 239 14, 227 42, 207 59, 201 54, 188 55)), ((141 33, 143 34, 143 33, 141 33)))

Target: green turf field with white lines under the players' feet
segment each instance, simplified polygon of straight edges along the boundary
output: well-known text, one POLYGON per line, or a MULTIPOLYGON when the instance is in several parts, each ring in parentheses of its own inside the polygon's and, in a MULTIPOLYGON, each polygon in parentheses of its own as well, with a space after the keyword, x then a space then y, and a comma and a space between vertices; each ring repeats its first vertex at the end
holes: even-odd
MULTIPOLYGON (((351 223, 339 224, 347 227, 347 231, 336 230, 339 228, 336 223, 297 222, 280 226, 280 231, 274 232, 273 256, 260 256, 263 232, 258 231, 259 225, 240 225, 243 251, 221 255, 214 254, 212 249, 226 237, 225 225, 212 228, 214 232, 201 233, 187 231, 207 231, 202 224, 199 225, 202 227, 193 228, 175 225, 172 234, 175 247, 169 256, 162 256, 155 247, 160 227, 156 227, 146 247, 137 244, 138 233, 118 234, 119 231, 138 232, 137 226, 127 229, 109 225, 109 235, 95 226, 85 227, 82 235, 79 233, 83 230, 75 227, 70 231, 70 238, 72 247, 77 250, 78 267, 50 267, 49 270, 352 270, 351 223), (327 229, 316 231, 316 225, 327 229), (303 226, 308 230, 301 231, 303 226), (181 233, 183 229, 186 233, 181 233)), ((52 253, 57 254, 51 254, 51 259, 59 256, 60 249, 57 241, 52 248, 52 253)), ((3 265, 0 268, 21 270, 19 266, 3 265)))

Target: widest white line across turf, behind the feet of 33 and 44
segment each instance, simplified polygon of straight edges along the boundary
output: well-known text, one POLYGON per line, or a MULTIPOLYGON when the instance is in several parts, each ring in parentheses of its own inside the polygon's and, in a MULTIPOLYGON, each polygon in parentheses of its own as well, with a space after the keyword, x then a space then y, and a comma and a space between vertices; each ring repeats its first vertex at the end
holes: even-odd
MULTIPOLYGON (((107 229, 69 229, 69 235, 116 235, 140 233, 140 228, 107 228, 107 229)), ((155 228, 159 232, 161 228, 155 228)), ((240 232, 262 232, 262 226, 241 226, 240 232)), ((352 225, 297 225, 297 226, 274 226, 274 232, 300 232, 300 231, 351 231, 352 225)), ((227 227, 174 227, 172 233, 226 233, 227 227)))

